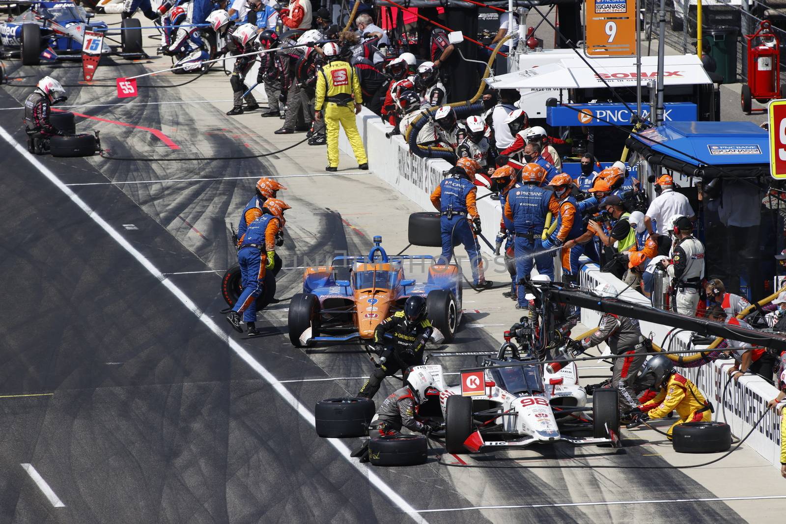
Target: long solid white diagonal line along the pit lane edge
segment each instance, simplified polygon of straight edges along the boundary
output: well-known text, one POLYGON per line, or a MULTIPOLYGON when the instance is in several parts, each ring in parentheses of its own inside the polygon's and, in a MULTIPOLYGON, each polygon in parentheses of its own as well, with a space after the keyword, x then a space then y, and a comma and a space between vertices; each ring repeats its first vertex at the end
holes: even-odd
MULTIPOLYGON (((84 200, 79 198, 75 192, 73 192, 71 189, 68 189, 63 181, 61 181, 60 178, 57 178, 57 175, 53 174, 53 172, 50 171, 48 167, 44 166, 39 161, 39 159, 35 158, 35 156, 32 156, 28 150, 22 147, 22 145, 20 145, 17 141, 14 141, 13 137, 8 134, 8 132, 3 127, 0 127, 0 137, 8 142, 11 147, 16 149, 20 156, 28 159, 28 162, 31 163, 31 165, 35 167, 39 173, 49 179, 49 181, 52 182, 57 187, 57 189, 60 189, 61 192, 67 195, 73 203, 79 206, 79 208, 84 211, 87 216, 89 216, 97 225, 101 226, 101 229, 104 229, 104 231, 108 233, 108 235, 111 236, 112 239, 115 240, 121 247, 123 247, 123 249, 125 249, 129 255, 133 256, 137 262, 141 264, 141 266, 147 269, 149 273, 156 278, 156 280, 159 280, 163 287, 167 288, 167 290, 169 290, 172 295, 182 302, 183 306, 193 313, 194 316, 205 325, 205 327, 210 329, 211 332, 219 337, 219 339, 222 339, 222 341, 230 347, 230 350, 232 350, 233 353, 237 355, 237 357, 240 357, 241 360, 243 360, 255 372, 257 372, 259 376, 261 376, 266 381, 266 383, 269 383, 270 386, 273 387, 274 391, 279 396, 281 396, 281 398, 284 399, 288 405, 291 405, 292 409, 294 409, 299 416, 303 417, 303 420, 306 420, 306 422, 309 423, 312 427, 315 427, 314 414, 311 413, 306 406, 301 404, 300 401, 295 398, 295 395, 290 393, 289 390, 281 385, 278 379, 276 379, 276 377, 271 372, 269 372, 265 366, 256 361, 255 358, 252 357, 252 355, 243 348, 243 346, 241 346, 235 340, 231 339, 230 335, 222 331, 221 328, 219 328, 219 326, 215 324, 211 318, 207 317, 198 307, 196 307, 196 304, 191 299, 189 299, 189 297, 185 295, 185 293, 180 288, 172 283, 171 280, 165 277, 163 273, 161 273, 160 270, 152 264, 152 262, 145 258, 145 255, 142 255, 139 251, 137 251, 137 249, 134 248, 134 246, 132 246, 128 240, 118 233, 117 230, 112 227, 112 225, 109 225, 108 222, 101 218, 94 211, 94 209, 88 206, 84 200)), ((387 497, 387 499, 390 500, 392 504, 395 504, 396 507, 409 515, 413 521, 419 522, 421 524, 428 524, 428 521, 424 519, 415 508, 413 508, 406 500, 403 499, 403 497, 399 495, 399 493, 396 493, 395 490, 391 488, 391 486, 388 486, 387 483, 382 480, 382 478, 372 471, 373 466, 369 464, 360 464, 358 460, 352 459, 349 456, 351 453, 350 449, 347 448, 347 445, 345 445, 340 440, 336 438, 328 438, 325 440, 327 440, 334 448, 336 448, 336 451, 339 453, 341 458, 343 458, 343 460, 347 461, 347 464, 350 464, 351 467, 354 467, 354 469, 360 473, 360 475, 367 478, 369 483, 379 490, 379 492, 384 497, 387 497)), ((57 498, 57 496, 55 497, 57 498)), ((57 501, 60 502, 60 499, 57 499, 57 501)), ((60 502, 60 504, 62 504, 62 502, 60 502)))

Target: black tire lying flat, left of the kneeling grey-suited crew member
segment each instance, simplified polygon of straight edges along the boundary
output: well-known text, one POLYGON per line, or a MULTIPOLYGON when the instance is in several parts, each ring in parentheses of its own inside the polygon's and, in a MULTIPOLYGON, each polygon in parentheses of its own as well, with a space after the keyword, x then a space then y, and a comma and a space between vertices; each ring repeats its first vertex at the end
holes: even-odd
POLYGON ((322 438, 365 437, 376 413, 370 398, 327 398, 314 409, 317 434, 322 438))

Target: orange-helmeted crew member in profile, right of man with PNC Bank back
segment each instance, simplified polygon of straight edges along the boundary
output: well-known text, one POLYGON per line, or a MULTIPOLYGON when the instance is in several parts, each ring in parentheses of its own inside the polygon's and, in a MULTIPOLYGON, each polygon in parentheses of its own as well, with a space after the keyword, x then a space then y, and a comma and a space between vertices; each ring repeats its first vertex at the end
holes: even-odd
MULTIPOLYGON (((543 240, 543 249, 561 246, 566 240, 573 240, 582 235, 582 212, 578 210, 576 199, 571 196, 573 188, 571 175, 561 173, 549 182, 549 187, 554 189, 554 199, 559 204, 559 218, 556 219, 556 231, 546 240, 543 240)), ((578 255, 583 247, 576 244, 573 247, 563 247, 560 251, 562 260, 562 280, 566 283, 576 282, 578 279, 578 255)))

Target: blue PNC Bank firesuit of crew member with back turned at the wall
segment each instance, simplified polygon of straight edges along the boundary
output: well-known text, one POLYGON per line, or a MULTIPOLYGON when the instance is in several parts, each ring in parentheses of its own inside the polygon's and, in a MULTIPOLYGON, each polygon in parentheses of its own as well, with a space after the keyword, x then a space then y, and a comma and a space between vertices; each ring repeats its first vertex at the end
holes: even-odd
MULTIPOLYGON (((530 166, 524 167, 525 170, 530 166)), ((520 185, 510 190, 505 201, 505 218, 512 221, 514 253, 516 255, 516 282, 519 283, 516 291, 518 308, 527 309, 526 292, 521 280, 530 276, 533 265, 532 253, 542 251, 541 235, 545 226, 545 217, 549 211, 558 211, 553 192, 539 187, 538 177, 533 176, 527 180, 525 174, 520 185)), ((554 278, 554 267, 549 255, 534 257, 534 265, 538 273, 554 278)))

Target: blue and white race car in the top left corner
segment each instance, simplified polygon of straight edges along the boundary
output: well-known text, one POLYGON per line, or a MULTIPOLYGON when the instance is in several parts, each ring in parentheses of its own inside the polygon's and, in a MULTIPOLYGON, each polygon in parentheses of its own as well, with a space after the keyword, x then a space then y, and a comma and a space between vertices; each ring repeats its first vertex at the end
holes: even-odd
MULTIPOLYGON (((12 2, 0 2, 10 4, 12 2)), ((24 13, 0 24, 2 55, 21 57, 24 65, 37 65, 41 60, 81 58, 85 31, 107 34, 105 22, 90 22, 94 15, 74 2, 13 2, 29 6, 24 13)), ((123 20, 120 46, 110 46, 106 39, 91 52, 116 54, 132 58, 144 56, 139 20, 123 20), (101 49, 97 49, 100 46, 101 49)))

